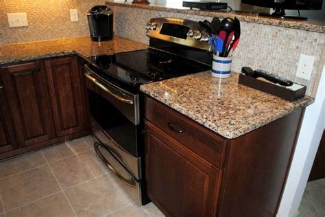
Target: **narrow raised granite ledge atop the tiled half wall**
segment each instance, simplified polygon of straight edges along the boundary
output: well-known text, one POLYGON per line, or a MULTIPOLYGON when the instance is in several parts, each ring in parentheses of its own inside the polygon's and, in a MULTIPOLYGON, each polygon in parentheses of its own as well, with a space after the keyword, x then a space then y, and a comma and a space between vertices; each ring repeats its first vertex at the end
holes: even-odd
POLYGON ((204 10, 190 10, 189 8, 183 7, 168 7, 161 4, 135 4, 135 3, 124 3, 121 0, 106 1, 106 5, 120 6, 120 7, 132 7, 132 8, 142 8, 149 10, 158 10, 166 12, 177 12, 182 14, 192 14, 199 16, 217 16, 220 19, 226 17, 234 18, 234 16, 239 19, 239 21, 245 21, 249 23, 261 23, 265 25, 275 25, 280 27, 287 27, 292 29, 311 31, 311 32, 320 32, 325 33, 325 22, 316 21, 309 19, 308 21, 300 21, 296 19, 280 19, 280 18, 269 18, 265 16, 257 16, 253 12, 239 12, 239 11, 204 11, 204 10))

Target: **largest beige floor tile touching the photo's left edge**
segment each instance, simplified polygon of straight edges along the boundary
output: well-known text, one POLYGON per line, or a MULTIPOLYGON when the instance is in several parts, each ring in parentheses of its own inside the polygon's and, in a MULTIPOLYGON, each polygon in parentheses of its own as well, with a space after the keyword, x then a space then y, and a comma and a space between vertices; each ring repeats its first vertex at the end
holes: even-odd
POLYGON ((5 210, 14 209, 60 191, 48 165, 0 180, 5 210))

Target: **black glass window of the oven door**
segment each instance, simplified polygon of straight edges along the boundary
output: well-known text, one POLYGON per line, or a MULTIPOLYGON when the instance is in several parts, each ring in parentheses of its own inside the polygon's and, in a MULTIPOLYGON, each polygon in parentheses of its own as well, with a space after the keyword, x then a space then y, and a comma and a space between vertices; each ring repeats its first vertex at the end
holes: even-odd
POLYGON ((108 100, 88 89, 91 116, 102 130, 131 155, 137 156, 136 125, 108 100))

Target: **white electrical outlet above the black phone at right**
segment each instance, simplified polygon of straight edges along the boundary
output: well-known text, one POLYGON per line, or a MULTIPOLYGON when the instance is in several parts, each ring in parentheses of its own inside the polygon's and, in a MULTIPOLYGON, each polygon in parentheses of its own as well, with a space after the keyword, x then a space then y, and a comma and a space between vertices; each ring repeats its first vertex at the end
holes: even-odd
POLYGON ((315 62, 315 56, 300 54, 296 76, 305 80, 311 79, 311 72, 315 62))

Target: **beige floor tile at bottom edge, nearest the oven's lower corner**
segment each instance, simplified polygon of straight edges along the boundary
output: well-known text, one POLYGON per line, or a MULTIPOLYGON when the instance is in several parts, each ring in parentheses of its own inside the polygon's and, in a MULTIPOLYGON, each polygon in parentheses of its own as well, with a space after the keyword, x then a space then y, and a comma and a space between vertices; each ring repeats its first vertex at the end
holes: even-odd
POLYGON ((108 175, 65 190, 77 216, 104 216, 131 203, 108 175))

